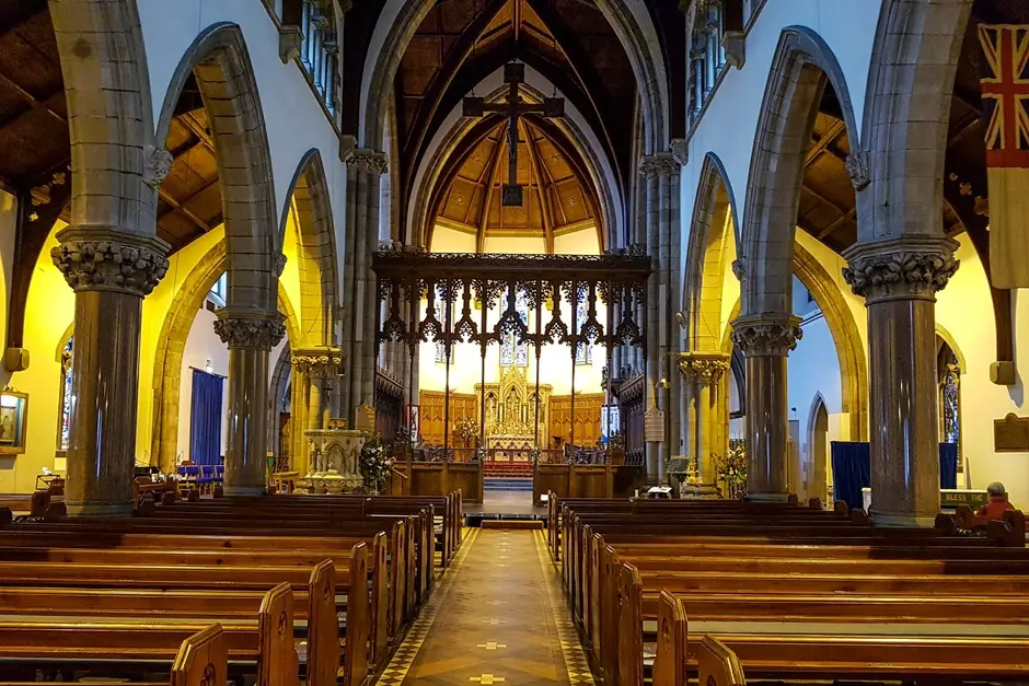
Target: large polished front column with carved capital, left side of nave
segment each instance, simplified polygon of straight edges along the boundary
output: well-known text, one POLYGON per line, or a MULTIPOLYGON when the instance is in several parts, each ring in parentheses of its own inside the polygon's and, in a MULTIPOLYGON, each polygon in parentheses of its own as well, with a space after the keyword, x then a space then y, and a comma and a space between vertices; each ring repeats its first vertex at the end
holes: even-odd
POLYGON ((142 299, 164 277, 170 246, 114 228, 69 226, 57 240, 50 257, 76 292, 65 503, 69 514, 128 516, 142 299))

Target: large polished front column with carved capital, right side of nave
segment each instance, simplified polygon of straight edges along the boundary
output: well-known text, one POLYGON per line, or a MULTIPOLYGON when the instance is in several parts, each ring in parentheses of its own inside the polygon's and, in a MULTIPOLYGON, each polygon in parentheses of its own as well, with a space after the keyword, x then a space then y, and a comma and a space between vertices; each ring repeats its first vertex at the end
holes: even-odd
POLYGON ((933 526, 939 512, 936 291, 958 269, 958 244, 904 236, 844 253, 844 279, 868 311, 871 520, 933 526))

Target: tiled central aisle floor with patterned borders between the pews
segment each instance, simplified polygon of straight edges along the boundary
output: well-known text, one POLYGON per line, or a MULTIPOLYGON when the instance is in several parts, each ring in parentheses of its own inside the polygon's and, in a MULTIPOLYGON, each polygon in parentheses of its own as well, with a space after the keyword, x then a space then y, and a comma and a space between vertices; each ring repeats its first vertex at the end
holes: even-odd
POLYGON ((472 530, 378 683, 592 684, 543 533, 472 530))

